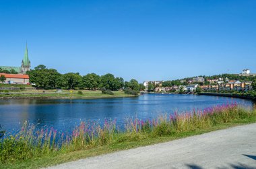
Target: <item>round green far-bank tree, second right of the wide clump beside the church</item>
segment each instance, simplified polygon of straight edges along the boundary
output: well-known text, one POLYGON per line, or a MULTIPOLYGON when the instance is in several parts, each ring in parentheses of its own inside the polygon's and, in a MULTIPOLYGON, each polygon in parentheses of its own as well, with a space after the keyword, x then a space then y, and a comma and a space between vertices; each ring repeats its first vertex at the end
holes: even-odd
POLYGON ((82 77, 84 88, 88 90, 97 90, 100 88, 100 76, 95 73, 88 73, 82 77))

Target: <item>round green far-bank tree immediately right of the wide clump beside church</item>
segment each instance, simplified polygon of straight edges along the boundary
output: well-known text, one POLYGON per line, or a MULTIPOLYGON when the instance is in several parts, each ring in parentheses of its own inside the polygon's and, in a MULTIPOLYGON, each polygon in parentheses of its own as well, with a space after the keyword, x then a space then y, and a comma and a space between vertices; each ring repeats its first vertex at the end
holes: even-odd
POLYGON ((63 75, 63 86, 66 89, 73 89, 82 86, 82 77, 79 73, 66 73, 63 75))

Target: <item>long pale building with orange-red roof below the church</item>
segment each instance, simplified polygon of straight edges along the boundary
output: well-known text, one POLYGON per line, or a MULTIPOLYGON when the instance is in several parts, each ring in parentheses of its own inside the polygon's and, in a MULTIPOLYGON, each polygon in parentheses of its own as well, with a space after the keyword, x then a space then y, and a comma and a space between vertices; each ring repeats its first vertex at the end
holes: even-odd
POLYGON ((9 83, 9 84, 28 84, 28 83, 30 83, 30 78, 28 75, 0 73, 0 76, 1 75, 4 75, 6 78, 4 83, 9 83))

